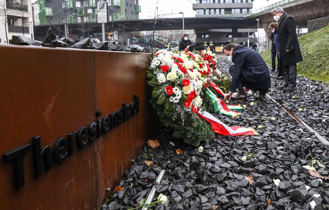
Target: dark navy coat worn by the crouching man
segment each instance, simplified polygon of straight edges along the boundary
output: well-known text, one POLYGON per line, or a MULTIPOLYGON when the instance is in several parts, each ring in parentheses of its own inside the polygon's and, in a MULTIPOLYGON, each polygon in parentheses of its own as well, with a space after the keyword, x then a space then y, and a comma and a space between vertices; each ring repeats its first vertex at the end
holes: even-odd
POLYGON ((254 88, 266 89, 271 87, 268 67, 262 56, 255 50, 237 44, 233 50, 232 62, 234 62, 234 72, 231 74, 230 91, 235 92, 237 80, 241 78, 241 75, 245 75, 242 78, 243 83, 250 84, 254 88), (242 71, 244 72, 242 73, 242 71))

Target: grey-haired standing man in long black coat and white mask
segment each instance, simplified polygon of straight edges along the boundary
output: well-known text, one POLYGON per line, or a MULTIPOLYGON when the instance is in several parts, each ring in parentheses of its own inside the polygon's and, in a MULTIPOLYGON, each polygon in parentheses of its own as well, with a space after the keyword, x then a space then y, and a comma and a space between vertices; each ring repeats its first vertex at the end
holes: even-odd
POLYGON ((279 21, 279 53, 285 71, 285 84, 278 89, 293 91, 296 89, 296 63, 303 61, 296 34, 296 22, 281 7, 274 8, 272 14, 274 19, 279 21))

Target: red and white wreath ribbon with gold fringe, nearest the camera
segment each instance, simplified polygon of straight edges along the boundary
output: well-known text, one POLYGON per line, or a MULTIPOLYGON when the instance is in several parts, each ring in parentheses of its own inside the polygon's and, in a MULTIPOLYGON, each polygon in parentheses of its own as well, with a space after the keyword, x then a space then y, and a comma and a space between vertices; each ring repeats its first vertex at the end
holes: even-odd
POLYGON ((258 135, 257 131, 255 131, 253 128, 242 128, 240 126, 229 127, 206 111, 198 111, 197 115, 200 118, 205 119, 213 128, 215 133, 221 135, 225 135, 225 136, 258 135))

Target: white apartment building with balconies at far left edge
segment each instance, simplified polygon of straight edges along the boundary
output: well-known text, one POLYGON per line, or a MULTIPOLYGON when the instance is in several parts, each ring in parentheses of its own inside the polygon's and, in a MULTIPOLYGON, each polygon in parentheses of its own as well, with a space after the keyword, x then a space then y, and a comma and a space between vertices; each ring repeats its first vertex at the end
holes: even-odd
POLYGON ((6 26, 3 24, 5 16, 0 16, 1 43, 10 43, 13 35, 25 35, 31 38, 33 34, 31 0, 6 0, 1 1, 0 4, 0 13, 7 14, 6 26))

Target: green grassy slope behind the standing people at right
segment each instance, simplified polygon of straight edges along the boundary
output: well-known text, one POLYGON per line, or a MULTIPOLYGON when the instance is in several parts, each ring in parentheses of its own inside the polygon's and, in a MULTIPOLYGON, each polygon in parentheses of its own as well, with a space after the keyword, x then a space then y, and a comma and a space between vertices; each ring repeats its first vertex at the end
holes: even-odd
MULTIPOLYGON (((297 74, 329 83, 329 25, 298 37, 302 62, 297 63, 297 74)), ((271 51, 261 53, 266 63, 271 64, 271 51)))

